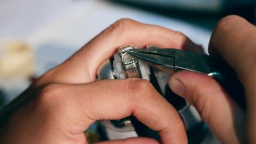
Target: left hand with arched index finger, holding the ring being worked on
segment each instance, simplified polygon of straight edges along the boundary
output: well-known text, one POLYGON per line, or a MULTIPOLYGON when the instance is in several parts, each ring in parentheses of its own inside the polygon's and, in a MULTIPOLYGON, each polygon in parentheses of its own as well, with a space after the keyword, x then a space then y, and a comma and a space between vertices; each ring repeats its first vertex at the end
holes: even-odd
MULTIPOLYGON (((84 131, 96 120, 135 116, 159 131, 163 144, 187 143, 178 112, 142 79, 96 81, 99 65, 121 45, 201 49, 179 32, 129 19, 115 22, 67 61, 38 78, 27 91, 35 99, 17 110, 2 128, 1 143, 86 143, 84 131), (39 90, 38 90, 39 89, 39 90)), ((158 143, 131 138, 112 143, 158 143)))

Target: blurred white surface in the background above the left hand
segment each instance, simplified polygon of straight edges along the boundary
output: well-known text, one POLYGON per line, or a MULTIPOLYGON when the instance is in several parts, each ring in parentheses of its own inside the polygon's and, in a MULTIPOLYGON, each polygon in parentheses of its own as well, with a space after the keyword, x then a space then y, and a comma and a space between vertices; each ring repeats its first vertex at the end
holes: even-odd
POLYGON ((205 48, 210 38, 209 30, 103 0, 4 0, 0 1, 0 43, 14 37, 34 47, 54 42, 79 48, 121 18, 183 32, 205 48))

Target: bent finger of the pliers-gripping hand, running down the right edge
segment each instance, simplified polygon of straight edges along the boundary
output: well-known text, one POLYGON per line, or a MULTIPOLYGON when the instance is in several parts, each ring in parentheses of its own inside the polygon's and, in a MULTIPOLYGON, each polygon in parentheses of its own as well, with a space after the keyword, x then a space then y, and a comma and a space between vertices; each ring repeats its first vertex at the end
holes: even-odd
POLYGON ((209 53, 219 53, 237 72, 247 100, 248 136, 256 142, 256 27, 239 16, 227 16, 216 26, 209 53))

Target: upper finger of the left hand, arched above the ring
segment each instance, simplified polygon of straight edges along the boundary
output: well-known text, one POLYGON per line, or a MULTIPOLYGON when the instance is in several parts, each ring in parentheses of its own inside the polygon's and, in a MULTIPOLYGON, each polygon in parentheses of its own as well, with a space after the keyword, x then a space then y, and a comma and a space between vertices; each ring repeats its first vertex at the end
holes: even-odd
MULTIPOLYGON (((109 59, 121 45, 145 47, 157 44, 162 48, 198 49, 180 32, 164 27, 121 19, 93 38, 59 67, 44 75, 44 80, 59 83, 86 83, 96 79, 99 65, 109 59), (53 75, 51 77, 51 75, 53 75)), ((40 81, 40 83, 45 83, 40 81)))

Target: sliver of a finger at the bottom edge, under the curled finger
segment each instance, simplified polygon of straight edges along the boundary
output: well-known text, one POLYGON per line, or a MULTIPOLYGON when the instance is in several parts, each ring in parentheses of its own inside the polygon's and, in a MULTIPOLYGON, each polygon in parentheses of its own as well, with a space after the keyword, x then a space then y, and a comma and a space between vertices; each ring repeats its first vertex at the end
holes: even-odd
POLYGON ((150 138, 128 138, 122 140, 113 140, 113 141, 103 141, 96 144, 160 144, 159 141, 150 138))

